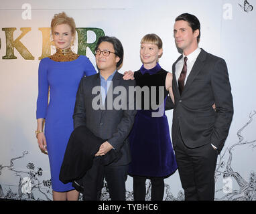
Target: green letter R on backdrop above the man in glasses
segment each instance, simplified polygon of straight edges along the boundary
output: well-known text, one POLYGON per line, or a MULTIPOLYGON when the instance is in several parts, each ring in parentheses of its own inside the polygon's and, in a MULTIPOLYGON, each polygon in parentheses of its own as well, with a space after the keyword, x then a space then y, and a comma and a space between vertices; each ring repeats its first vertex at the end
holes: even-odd
POLYGON ((92 27, 78 27, 76 28, 78 35, 78 55, 86 56, 86 47, 89 47, 94 54, 94 48, 96 47, 99 37, 105 35, 103 29, 92 28, 92 27), (96 35, 96 40, 94 43, 87 43, 87 32, 93 31, 96 35))

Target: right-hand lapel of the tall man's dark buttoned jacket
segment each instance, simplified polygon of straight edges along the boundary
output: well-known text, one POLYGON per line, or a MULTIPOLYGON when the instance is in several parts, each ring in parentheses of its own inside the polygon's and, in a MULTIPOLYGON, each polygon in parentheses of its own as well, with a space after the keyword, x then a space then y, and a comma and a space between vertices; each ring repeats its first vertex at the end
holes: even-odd
POLYGON ((206 59, 206 54, 207 53, 204 51, 204 49, 200 51, 200 54, 198 55, 196 62, 194 62, 194 66, 192 67, 192 70, 188 76, 182 94, 186 93, 190 84, 194 81, 194 78, 196 78, 198 73, 202 70, 202 67, 204 66, 204 60, 206 59))

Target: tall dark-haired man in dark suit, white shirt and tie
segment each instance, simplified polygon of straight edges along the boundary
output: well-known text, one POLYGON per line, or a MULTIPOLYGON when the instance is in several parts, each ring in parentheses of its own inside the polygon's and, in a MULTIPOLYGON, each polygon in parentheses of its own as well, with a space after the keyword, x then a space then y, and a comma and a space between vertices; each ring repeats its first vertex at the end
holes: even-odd
POLYGON ((198 47, 200 22, 194 15, 176 18, 174 38, 182 56, 172 67, 172 141, 185 200, 214 200, 216 160, 233 118, 227 65, 198 47))

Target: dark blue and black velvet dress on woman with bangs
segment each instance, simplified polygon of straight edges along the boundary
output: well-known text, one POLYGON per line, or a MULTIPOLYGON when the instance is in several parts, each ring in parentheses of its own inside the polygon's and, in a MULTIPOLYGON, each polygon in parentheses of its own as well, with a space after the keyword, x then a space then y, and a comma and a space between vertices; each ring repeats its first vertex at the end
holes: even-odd
MULTIPOLYGON (((159 64, 151 70, 145 70, 143 66, 134 73, 137 86, 155 86, 156 103, 159 104, 159 87, 164 87, 164 100, 168 96, 166 90, 166 75, 168 72, 163 70, 159 64)), ((131 163, 129 165, 129 175, 139 175, 144 177, 167 177, 172 175, 177 169, 176 158, 170 139, 170 131, 166 114, 152 117, 153 110, 147 110, 145 102, 151 104, 151 94, 148 99, 141 96, 141 110, 137 110, 135 122, 129 135, 131 146, 131 163)), ((138 99, 138 96, 137 96, 138 99)), ((153 98, 155 99, 155 98, 153 98)), ((139 100, 137 100, 138 102, 139 100)), ((160 101, 161 102, 161 101, 160 101)))

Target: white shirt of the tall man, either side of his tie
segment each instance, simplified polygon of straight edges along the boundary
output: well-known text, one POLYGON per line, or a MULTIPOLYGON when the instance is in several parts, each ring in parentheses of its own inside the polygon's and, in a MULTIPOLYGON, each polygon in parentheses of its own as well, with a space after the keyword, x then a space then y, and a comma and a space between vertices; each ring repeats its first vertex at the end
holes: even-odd
MULTIPOLYGON (((191 54, 186 56, 188 58, 188 61, 187 61, 187 74, 186 74, 186 78, 184 81, 185 84, 186 84, 188 76, 194 66, 194 62, 196 62, 196 59, 197 59, 198 55, 200 54, 200 51, 201 51, 200 47, 197 47, 191 54)), ((180 73, 182 72, 182 68, 184 65, 185 55, 182 54, 182 56, 183 57, 176 64, 175 76, 176 76, 177 84, 178 84, 178 78, 180 77, 180 73)))

